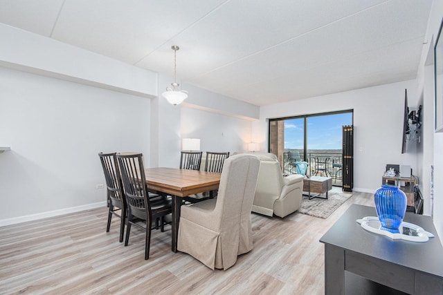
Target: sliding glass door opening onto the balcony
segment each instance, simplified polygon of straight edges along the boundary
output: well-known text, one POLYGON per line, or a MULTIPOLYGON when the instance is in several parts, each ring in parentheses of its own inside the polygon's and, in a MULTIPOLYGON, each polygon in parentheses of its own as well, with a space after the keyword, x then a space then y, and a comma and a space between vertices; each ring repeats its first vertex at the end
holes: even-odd
POLYGON ((352 116, 347 110, 269 120, 269 151, 284 173, 327 176, 341 186, 342 126, 352 125, 352 116))

